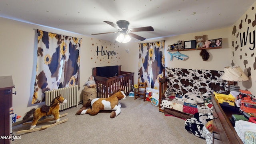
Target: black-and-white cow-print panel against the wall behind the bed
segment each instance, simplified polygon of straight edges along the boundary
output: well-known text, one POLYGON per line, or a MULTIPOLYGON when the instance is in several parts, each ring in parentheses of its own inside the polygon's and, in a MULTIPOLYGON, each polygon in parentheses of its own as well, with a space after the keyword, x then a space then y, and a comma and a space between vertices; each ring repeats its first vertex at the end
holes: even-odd
POLYGON ((169 80, 167 93, 176 94, 225 92, 225 82, 221 79, 224 71, 165 68, 169 80))

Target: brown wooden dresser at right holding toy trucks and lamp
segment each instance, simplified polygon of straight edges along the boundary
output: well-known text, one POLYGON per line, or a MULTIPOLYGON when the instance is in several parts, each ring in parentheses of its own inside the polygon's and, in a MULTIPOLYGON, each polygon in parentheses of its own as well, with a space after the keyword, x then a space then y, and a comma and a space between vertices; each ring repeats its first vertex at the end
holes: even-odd
POLYGON ((229 117, 232 112, 223 111, 222 107, 212 95, 213 105, 213 143, 214 144, 243 144, 232 126, 229 117), (228 117, 228 116, 229 117, 228 117))

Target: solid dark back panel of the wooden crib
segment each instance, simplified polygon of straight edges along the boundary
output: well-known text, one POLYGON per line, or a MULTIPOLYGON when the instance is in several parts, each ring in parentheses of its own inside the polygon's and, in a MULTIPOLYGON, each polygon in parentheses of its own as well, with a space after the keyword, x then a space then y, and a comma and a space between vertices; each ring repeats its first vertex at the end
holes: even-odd
POLYGON ((92 76, 110 78, 121 74, 121 66, 102 66, 92 68, 92 76))

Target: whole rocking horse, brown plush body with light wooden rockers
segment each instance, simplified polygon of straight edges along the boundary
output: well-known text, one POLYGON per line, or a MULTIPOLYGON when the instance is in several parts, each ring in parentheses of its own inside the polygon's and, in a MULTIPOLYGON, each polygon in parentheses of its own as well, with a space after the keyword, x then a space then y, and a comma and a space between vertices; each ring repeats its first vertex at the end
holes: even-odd
POLYGON ((26 122, 26 123, 22 124, 22 125, 31 124, 30 129, 29 130, 20 130, 17 132, 17 134, 22 133, 22 132, 26 133, 26 132, 34 132, 34 131, 38 131, 38 130, 44 130, 46 128, 56 126, 58 124, 66 122, 68 119, 60 121, 60 117, 66 116, 68 113, 62 114, 61 116, 59 113, 60 104, 64 104, 64 103, 67 103, 67 100, 64 99, 62 96, 57 96, 56 98, 54 98, 52 100, 50 106, 43 105, 41 108, 32 108, 29 112, 26 113, 23 120, 27 120, 33 114, 33 121, 26 122), (43 116, 49 116, 49 115, 53 115, 54 118, 45 118, 44 120, 38 121, 43 116), (52 120, 55 120, 54 124, 42 126, 41 128, 34 128, 36 126, 36 124, 40 124, 40 123, 48 122, 48 121, 52 121, 52 120))

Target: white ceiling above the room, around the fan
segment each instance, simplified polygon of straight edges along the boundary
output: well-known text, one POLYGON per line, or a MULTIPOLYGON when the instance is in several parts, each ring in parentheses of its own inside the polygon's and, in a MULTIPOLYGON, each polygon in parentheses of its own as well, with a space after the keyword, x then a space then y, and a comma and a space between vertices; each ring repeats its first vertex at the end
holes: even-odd
MULTIPOLYGON (((148 39, 232 26, 255 0, 1 0, 0 17, 114 42, 117 32, 103 21, 130 22, 148 39), (193 13, 196 14, 193 15, 193 13)), ((132 38, 132 41, 139 41, 132 38)))

